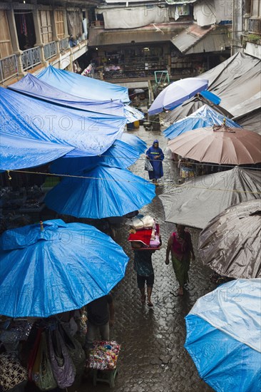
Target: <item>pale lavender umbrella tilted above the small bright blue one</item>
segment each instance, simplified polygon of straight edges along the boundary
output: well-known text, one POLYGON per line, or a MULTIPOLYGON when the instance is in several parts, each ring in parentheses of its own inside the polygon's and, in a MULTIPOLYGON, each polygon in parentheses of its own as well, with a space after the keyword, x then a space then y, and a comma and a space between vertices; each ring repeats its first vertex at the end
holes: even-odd
POLYGON ((172 110, 207 88, 208 81, 200 78, 186 78, 173 82, 158 94, 148 109, 148 114, 158 114, 164 109, 172 110))

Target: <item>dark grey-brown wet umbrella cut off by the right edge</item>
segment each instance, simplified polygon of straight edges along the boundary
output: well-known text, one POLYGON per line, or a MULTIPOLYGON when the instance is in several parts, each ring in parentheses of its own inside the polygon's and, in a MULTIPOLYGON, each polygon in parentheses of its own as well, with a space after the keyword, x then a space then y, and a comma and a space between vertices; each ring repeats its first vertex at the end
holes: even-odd
POLYGON ((261 277, 261 201, 227 208, 200 233, 203 263, 232 278, 261 277))

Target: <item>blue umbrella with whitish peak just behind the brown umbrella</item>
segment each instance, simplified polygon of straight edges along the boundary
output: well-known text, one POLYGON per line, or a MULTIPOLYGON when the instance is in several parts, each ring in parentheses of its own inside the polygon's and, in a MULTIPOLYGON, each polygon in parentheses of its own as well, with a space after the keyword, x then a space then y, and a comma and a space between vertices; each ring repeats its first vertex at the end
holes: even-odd
POLYGON ((174 139, 176 136, 181 135, 189 130, 197 128, 208 128, 213 125, 222 125, 225 119, 225 124, 228 127, 241 128, 240 125, 230 118, 218 113, 208 105, 203 105, 201 108, 196 110, 193 114, 188 115, 182 120, 178 120, 170 127, 163 131, 166 138, 174 139))

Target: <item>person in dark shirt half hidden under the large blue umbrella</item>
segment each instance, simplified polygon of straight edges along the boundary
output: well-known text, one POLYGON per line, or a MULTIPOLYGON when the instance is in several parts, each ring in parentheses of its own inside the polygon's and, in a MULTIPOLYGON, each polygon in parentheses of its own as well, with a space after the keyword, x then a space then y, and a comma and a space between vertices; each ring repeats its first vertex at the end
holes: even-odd
POLYGON ((111 294, 101 296, 87 304, 86 309, 88 321, 85 346, 90 349, 96 334, 101 335, 101 340, 110 339, 110 326, 114 324, 113 297, 111 294))

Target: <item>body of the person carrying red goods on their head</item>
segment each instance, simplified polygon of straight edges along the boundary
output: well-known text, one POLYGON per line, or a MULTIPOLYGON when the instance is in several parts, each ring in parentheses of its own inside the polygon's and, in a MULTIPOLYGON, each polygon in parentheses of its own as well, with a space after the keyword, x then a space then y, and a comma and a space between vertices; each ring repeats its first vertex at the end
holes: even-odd
MULTIPOLYGON (((160 238, 160 245, 161 245, 160 238)), ((150 301, 151 293, 153 291, 154 284, 154 270, 152 264, 152 255, 155 250, 144 249, 134 251, 134 269, 137 272, 137 283, 140 289, 140 301, 144 304, 146 300, 145 296, 145 283, 147 284, 147 305, 153 306, 150 301)))

